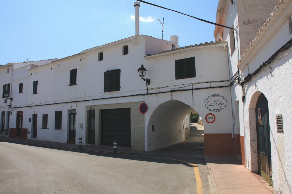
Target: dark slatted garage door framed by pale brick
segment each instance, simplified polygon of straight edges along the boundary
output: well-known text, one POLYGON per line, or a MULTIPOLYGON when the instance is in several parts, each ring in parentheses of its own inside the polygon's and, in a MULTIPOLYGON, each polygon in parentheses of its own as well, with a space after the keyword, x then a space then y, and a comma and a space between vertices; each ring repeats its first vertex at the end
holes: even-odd
POLYGON ((101 110, 101 145, 131 147, 131 115, 130 108, 101 110))

